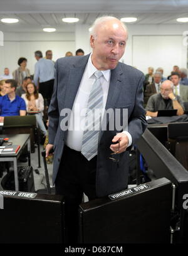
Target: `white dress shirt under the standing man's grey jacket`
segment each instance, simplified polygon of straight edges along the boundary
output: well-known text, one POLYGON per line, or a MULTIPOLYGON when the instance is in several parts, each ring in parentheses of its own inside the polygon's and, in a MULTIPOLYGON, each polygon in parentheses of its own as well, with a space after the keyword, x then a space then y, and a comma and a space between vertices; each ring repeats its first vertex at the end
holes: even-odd
MULTIPOLYGON (((96 80, 94 75, 97 68, 93 65, 91 61, 91 55, 86 64, 85 72, 81 78, 80 87, 75 97, 75 102, 73 104, 73 109, 70 116, 70 125, 68 127, 68 136, 66 138, 66 146, 74 149, 76 151, 81 151, 82 138, 83 138, 83 127, 85 125, 85 115, 86 108, 88 105, 88 98, 90 95, 91 87, 96 80)), ((105 112, 105 106, 107 103, 108 89, 110 85, 110 70, 102 70, 103 76, 100 78, 103 90, 103 111, 102 118, 105 112)), ((127 134, 129 143, 128 146, 132 144, 132 136, 127 131, 123 131, 127 134)))

